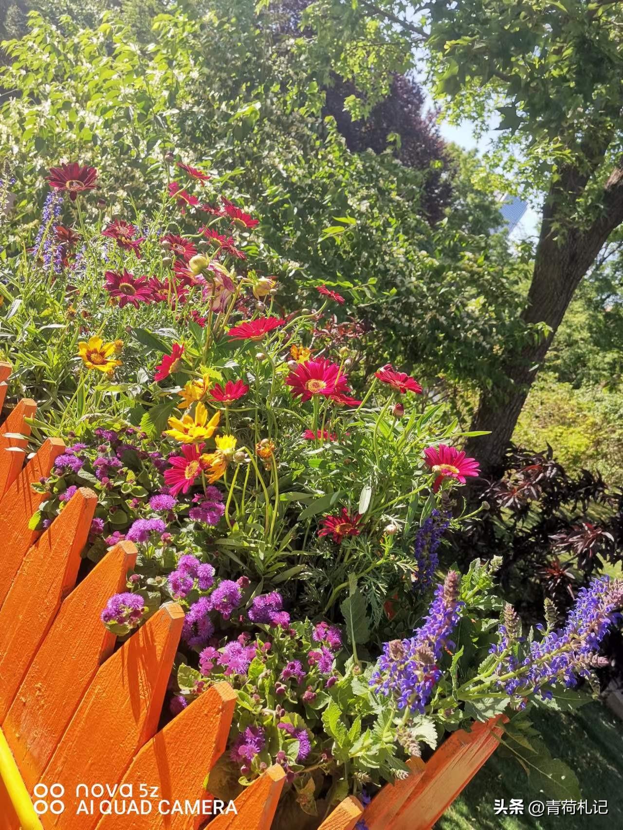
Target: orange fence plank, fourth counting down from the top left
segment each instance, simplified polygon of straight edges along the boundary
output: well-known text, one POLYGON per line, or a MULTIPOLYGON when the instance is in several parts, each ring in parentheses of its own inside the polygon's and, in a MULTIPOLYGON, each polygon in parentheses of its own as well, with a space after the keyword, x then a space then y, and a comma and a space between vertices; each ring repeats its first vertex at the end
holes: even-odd
POLYGON ((0 608, 0 723, 62 599, 76 583, 96 504, 92 490, 76 491, 27 551, 0 608))

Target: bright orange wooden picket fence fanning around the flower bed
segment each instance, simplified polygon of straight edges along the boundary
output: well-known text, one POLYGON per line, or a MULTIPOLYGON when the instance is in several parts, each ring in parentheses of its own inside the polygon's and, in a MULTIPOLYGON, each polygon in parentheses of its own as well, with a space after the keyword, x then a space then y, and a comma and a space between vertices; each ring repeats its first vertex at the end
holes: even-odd
MULTIPOLYGON (((0 364, 0 408, 9 372, 0 364)), ((123 590, 135 546, 116 544, 76 586, 96 508, 86 488, 47 530, 28 529, 45 498, 31 483, 49 475, 64 449, 48 439, 27 460, 24 419, 35 409, 32 401, 18 403, 0 427, 0 830, 197 830, 205 816, 167 814, 166 803, 211 798, 203 782, 227 744, 236 693, 218 683, 158 730, 184 612, 165 604, 115 650, 100 613, 123 590), (64 793, 54 809, 60 801, 65 809, 52 813, 58 784, 64 793), (94 792, 86 795, 81 784, 95 785, 94 792), (106 785, 116 794, 102 795, 106 785), (150 811, 99 812, 101 798, 120 803, 130 792, 150 811), (23 818, 28 811, 32 819, 23 818)), ((469 734, 454 732, 426 764, 412 759, 410 776, 385 786, 365 809, 346 798, 321 830, 351 830, 361 819, 369 830, 432 827, 493 752, 500 731, 494 719, 469 734)), ((267 769, 236 798, 236 812, 217 815, 210 830, 269 830, 284 780, 280 766, 267 769)))

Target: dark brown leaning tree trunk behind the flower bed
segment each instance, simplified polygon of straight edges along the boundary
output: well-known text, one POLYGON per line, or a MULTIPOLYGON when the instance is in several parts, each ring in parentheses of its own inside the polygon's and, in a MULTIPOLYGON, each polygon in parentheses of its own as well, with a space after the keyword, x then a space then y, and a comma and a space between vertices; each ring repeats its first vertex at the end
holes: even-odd
MULTIPOLYGON (((567 186, 569 184, 567 182, 567 186)), ((576 288, 611 232, 623 222, 623 169, 616 168, 606 183, 601 215, 590 227, 567 229, 562 239, 557 237, 554 228, 557 227, 564 187, 562 182, 550 189, 543 210, 527 305, 522 312, 522 320, 527 325, 546 324, 548 334, 525 346, 519 354, 509 356, 505 374, 510 391, 506 394, 498 390, 483 393, 473 419, 473 430, 490 433, 470 439, 466 447, 468 455, 478 458, 484 475, 499 471, 527 394, 576 288)))

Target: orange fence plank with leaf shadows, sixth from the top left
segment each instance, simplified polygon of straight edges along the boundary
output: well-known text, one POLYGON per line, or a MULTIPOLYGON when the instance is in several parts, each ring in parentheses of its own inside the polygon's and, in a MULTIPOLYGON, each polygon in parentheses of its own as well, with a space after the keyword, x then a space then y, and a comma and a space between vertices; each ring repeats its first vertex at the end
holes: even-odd
POLYGON ((168 603, 100 667, 42 775, 61 782, 66 809, 42 815, 46 830, 92 830, 100 815, 78 813, 78 784, 119 784, 140 747, 158 726, 167 683, 184 623, 184 611, 168 603))

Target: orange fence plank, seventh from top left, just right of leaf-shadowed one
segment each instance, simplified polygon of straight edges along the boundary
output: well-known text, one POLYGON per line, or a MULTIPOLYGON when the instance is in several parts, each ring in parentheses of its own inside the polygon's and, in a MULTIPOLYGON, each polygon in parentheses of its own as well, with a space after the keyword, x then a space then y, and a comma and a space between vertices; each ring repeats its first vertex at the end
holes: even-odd
MULTIPOLYGON (((140 784, 158 787, 158 801, 165 799, 169 805, 176 800, 184 804, 187 798, 192 803, 207 800, 203 782, 227 745, 236 698, 228 683, 216 683, 205 691, 140 750, 122 784, 130 784, 135 798, 140 784)), ((196 817, 164 815, 152 802, 151 813, 105 816, 97 830, 190 830, 208 815, 211 812, 196 817)))

